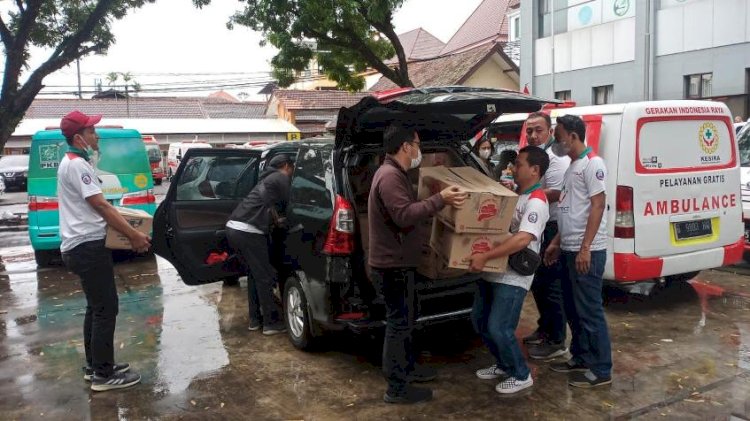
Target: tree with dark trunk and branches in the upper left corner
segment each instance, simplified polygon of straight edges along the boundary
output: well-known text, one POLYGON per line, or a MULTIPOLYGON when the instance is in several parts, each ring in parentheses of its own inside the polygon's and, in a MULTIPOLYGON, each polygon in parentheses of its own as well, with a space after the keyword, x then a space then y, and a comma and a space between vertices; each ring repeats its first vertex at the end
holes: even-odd
POLYGON ((154 0, 16 0, 0 11, 4 73, 0 90, 0 150, 21 122, 44 78, 114 43, 111 23, 154 0), (5 10, 10 9, 5 12, 5 10), (29 68, 29 48, 51 49, 47 60, 29 68), (22 76, 27 76, 22 83, 22 76))

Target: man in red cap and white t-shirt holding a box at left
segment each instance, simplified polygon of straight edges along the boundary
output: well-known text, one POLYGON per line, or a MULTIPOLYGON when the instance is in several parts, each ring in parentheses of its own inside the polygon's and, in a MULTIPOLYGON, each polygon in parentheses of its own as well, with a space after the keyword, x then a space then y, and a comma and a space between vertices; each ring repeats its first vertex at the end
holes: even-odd
POLYGON ((91 381, 91 390, 95 391, 121 389, 141 381, 128 364, 114 362, 119 304, 112 252, 104 247, 107 225, 125 234, 136 252, 145 252, 151 246, 151 239, 131 227, 104 199, 100 181, 89 163, 90 154, 99 150, 94 126, 101 119, 101 115, 88 116, 80 111, 62 118, 60 129, 69 149, 57 170, 60 251, 68 269, 81 278, 86 294, 83 378, 91 381))

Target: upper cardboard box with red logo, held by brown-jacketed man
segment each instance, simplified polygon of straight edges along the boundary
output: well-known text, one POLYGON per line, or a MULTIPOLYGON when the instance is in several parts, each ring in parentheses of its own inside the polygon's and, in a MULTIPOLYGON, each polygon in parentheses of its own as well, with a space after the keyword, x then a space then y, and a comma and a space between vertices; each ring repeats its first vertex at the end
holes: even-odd
POLYGON ((419 174, 417 195, 420 200, 457 186, 468 193, 461 209, 446 206, 436 217, 458 234, 504 234, 518 195, 471 167, 424 168, 419 174))

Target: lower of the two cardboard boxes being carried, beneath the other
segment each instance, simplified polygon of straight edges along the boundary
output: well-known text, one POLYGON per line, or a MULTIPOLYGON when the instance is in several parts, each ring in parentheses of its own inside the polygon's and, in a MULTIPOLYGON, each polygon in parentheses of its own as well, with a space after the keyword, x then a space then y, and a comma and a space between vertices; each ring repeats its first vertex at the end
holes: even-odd
MULTIPOLYGON (((511 234, 457 234, 439 220, 432 225, 430 245, 449 268, 469 269, 469 258, 491 250, 510 238, 511 234)), ((508 256, 487 262, 484 272, 503 273, 508 268, 508 256)))

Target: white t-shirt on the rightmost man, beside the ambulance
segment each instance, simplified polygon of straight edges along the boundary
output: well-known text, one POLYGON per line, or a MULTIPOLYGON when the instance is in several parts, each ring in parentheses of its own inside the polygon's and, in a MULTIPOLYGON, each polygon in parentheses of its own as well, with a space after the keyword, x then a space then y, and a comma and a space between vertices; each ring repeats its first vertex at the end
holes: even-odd
MULTIPOLYGON (((604 160, 593 152, 570 163, 565 173, 565 183, 560 192, 559 231, 560 248, 565 251, 581 250, 583 235, 586 232, 591 198, 606 190, 607 168, 604 160)), ((602 222, 596 232, 591 250, 607 248, 607 212, 602 215, 602 222)))

